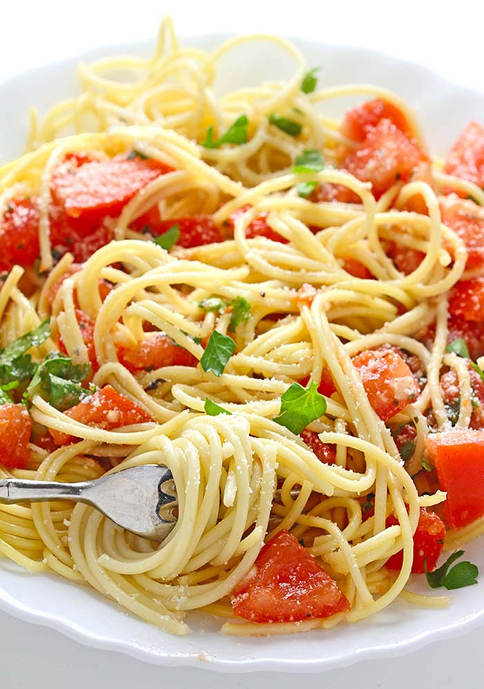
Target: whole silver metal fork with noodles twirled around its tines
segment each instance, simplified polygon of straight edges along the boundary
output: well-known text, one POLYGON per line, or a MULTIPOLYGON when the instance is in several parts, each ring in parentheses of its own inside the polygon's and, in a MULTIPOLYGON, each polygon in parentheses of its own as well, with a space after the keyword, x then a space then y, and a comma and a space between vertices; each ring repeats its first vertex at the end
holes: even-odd
POLYGON ((110 520, 145 538, 162 541, 177 520, 178 498, 166 466, 144 464, 74 484, 0 480, 0 503, 73 500, 96 508, 110 520))

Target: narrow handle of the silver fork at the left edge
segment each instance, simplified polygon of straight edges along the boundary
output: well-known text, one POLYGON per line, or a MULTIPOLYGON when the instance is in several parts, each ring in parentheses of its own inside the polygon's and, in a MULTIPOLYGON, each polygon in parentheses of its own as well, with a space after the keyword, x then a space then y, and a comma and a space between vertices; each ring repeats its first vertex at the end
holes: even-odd
POLYGON ((75 484, 64 484, 58 481, 28 481, 25 479, 1 479, 0 503, 46 502, 48 500, 91 501, 83 495, 91 481, 79 481, 75 484))

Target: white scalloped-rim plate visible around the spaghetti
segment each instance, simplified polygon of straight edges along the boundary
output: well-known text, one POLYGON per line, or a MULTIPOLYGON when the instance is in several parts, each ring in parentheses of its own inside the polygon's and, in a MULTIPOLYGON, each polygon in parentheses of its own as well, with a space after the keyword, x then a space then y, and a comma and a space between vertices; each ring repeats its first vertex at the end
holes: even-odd
MULTIPOLYGON (((187 44, 210 48, 222 38, 196 37, 188 39, 187 44)), ((482 118, 484 93, 449 84, 421 66, 360 48, 301 40, 297 44, 310 66, 322 66, 321 83, 380 84, 407 98, 418 113, 431 150, 438 154, 445 154, 469 120, 482 118)), ((147 55, 150 47, 138 44, 105 48, 0 84, 0 102, 8 103, 8 111, 3 109, 1 116, 0 162, 23 150, 28 107, 35 104, 45 109, 76 93, 74 70, 80 59, 120 52, 147 55)), ((290 68, 290 61, 277 48, 262 42, 250 51, 238 49, 225 59, 227 78, 225 84, 218 84, 221 89, 283 77, 290 68)), ((331 104, 331 112, 341 114, 347 106, 347 100, 331 104)), ((482 540, 467 546, 466 555, 484 571, 482 540)), ((421 579, 412 582, 413 590, 425 592, 421 579)), ((1 560, 0 607, 26 621, 53 627, 86 645, 116 650, 159 665, 193 665, 228 672, 314 672, 362 659, 404 654, 484 624, 484 583, 455 591, 451 605, 445 609, 421 609, 398 602, 368 621, 339 625, 329 632, 235 639, 218 632, 220 621, 194 615, 189 617, 192 634, 176 637, 122 612, 94 591, 71 585, 57 576, 32 575, 1 560)))

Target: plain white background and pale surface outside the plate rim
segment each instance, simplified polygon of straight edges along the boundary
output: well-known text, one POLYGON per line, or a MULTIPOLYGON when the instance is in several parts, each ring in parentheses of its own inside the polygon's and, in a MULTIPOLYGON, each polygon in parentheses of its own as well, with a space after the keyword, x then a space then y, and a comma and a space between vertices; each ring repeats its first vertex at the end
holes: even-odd
MULTIPOLYGON (((152 37, 162 14, 171 12, 180 34, 270 32, 355 44, 420 62, 454 82, 484 89, 482 1, 3 0, 1 7, 0 81, 89 48, 152 37)), ((0 122, 7 109, 2 102, 0 122)), ((62 682, 69 689, 284 689, 301 681, 305 689, 467 688, 482 684, 483 647, 484 629, 402 658, 366 661, 324 675, 230 676, 144 665, 0 612, 0 688, 46 689, 62 682)))

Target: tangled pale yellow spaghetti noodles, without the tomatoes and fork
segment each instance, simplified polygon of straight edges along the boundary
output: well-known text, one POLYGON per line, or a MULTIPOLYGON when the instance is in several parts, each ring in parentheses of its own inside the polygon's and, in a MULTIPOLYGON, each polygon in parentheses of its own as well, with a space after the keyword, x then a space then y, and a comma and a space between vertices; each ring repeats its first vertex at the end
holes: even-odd
MULTIPOLYGON (((124 532, 81 504, 0 505, 0 552, 30 571, 87 583, 174 634, 189 631, 185 614, 194 610, 226 618, 227 634, 283 634, 358 621, 398 596, 434 607, 447 602, 405 589, 420 508, 445 499, 438 486, 420 490, 411 477, 421 470, 429 424, 430 430, 451 428, 440 387, 443 369, 454 371, 460 399, 467 401, 456 426, 469 428, 472 417, 469 370, 446 351, 449 289, 465 275, 467 250, 443 223, 436 189, 452 187, 472 194, 476 203, 483 203, 483 192, 436 164, 434 185, 397 180, 375 197, 371 184, 337 169, 341 147, 351 151, 357 143, 319 109, 345 95, 384 99, 402 113, 425 150, 416 118, 398 96, 375 86, 304 93, 306 71, 299 50, 283 39, 239 37, 203 53, 180 47, 165 20, 149 59, 81 65, 82 94, 55 105, 42 120, 32 111, 28 152, 0 170, 0 226, 12 199, 35 195, 40 255, 38 270, 15 266, 3 282, 1 346, 50 318, 50 337, 30 350, 34 360, 44 360, 62 342, 74 365, 89 365, 82 311, 93 322, 97 370, 91 384, 111 386, 151 419, 102 428, 69 416, 37 390, 30 400, 37 434, 53 430, 75 441, 53 449, 34 439, 28 468, 0 467, 0 476, 80 481, 163 463, 173 472, 180 501, 176 527, 162 544, 124 532), (254 38, 286 50, 294 73, 285 82, 216 98, 218 62, 254 38), (110 77, 119 70, 136 77, 110 77), (274 125, 274 112, 295 122, 300 135, 274 125), (220 134, 241 115, 248 119, 245 143, 203 145, 209 127, 220 134), (323 152, 324 169, 294 171, 295 158, 307 149, 323 152), (50 209, 59 165, 85 151, 100 161, 135 151, 140 160, 169 171, 132 194, 108 221, 115 241, 75 269, 71 252, 55 255, 50 209), (356 198, 316 203, 297 193, 304 183, 339 185, 356 198), (418 211, 409 206, 416 198, 423 203, 418 211), (168 252, 136 224, 153 206, 173 223, 210 216, 225 241, 168 252), (245 212, 236 214, 240 209, 245 212), (261 217, 284 242, 250 234, 261 217), (425 255, 407 275, 388 255, 395 235, 400 246, 425 255), (355 258, 367 276, 352 275, 348 261, 355 258), (103 284, 109 285, 107 295, 103 284), (313 293, 304 299, 308 285, 313 293), (232 332, 231 309, 201 306, 211 298, 225 304, 241 298, 250 314, 232 332), (434 321, 429 344, 418 333, 434 321), (235 343, 221 375, 199 363, 214 329, 235 343), (165 333, 198 365, 127 366, 120 351, 156 333, 165 333), (354 361, 363 352, 389 348, 418 361, 427 382, 386 424, 354 361), (308 430, 334 446, 334 463, 320 461, 302 437, 274 421, 288 387, 308 377, 319 381, 324 371, 335 392, 326 395, 326 412, 308 430), (207 399, 230 414, 207 415, 207 399), (416 427, 416 443, 404 464, 393 431, 409 423, 416 427), (365 499, 373 500, 371 513, 362 508, 365 499), (281 529, 304 541, 337 582, 347 612, 271 623, 234 615, 232 592, 250 575, 264 540, 281 529), (402 565, 390 571, 385 562, 400 551, 402 565)), ((483 530, 481 520, 451 531, 449 544, 483 530)))

